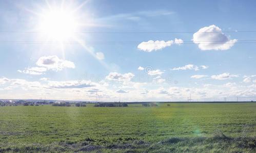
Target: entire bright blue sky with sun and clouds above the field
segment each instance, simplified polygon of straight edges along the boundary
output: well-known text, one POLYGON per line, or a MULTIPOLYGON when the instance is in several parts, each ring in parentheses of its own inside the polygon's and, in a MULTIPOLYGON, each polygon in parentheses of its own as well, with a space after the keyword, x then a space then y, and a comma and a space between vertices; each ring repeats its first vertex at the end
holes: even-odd
POLYGON ((0 98, 255 100, 255 6, 1 1, 0 98))

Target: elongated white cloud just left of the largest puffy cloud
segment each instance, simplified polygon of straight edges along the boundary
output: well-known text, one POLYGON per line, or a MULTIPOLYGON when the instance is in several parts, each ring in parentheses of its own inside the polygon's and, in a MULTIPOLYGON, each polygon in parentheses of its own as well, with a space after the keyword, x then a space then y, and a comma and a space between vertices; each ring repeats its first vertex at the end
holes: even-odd
POLYGON ((156 51, 156 50, 160 50, 165 47, 171 46, 173 43, 181 45, 183 43, 183 40, 175 38, 174 41, 173 40, 169 40, 169 41, 149 40, 148 42, 143 41, 137 46, 137 48, 140 50, 143 50, 144 52, 152 52, 153 50, 156 51))

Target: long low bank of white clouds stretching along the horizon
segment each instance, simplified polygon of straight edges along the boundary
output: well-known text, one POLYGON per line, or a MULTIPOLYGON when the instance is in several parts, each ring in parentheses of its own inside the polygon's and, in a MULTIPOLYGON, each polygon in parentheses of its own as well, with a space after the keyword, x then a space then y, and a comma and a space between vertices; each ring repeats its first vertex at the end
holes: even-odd
MULTIPOLYGON (((160 76, 155 77, 161 79, 160 76)), ((105 81, 105 80, 104 80, 105 81)), ((255 81, 256 82, 256 81, 255 81)), ((110 84, 103 86, 102 83, 93 83, 90 81, 41 81, 32 82, 23 79, 0 78, 0 91, 2 98, 38 98, 46 95, 51 99, 66 100, 95 100, 96 94, 100 100, 116 101, 119 99, 117 93, 122 94, 124 101, 161 101, 161 100, 187 100, 191 93, 191 98, 202 100, 223 100, 227 97, 232 100, 239 96, 239 100, 253 100, 256 97, 256 84, 243 85, 236 83, 226 83, 223 85, 202 85, 199 87, 175 87, 152 86, 154 83, 126 82, 126 84, 110 84), (15 89, 15 91, 14 91, 15 89), (13 90, 13 91, 11 91, 13 90), (123 90, 123 91, 119 91, 123 90), (221 96, 221 98, 220 98, 221 96), (243 99, 243 97, 245 97, 243 99), (252 98, 252 99, 251 99, 252 98)), ((236 100, 236 99, 235 99, 236 100)))

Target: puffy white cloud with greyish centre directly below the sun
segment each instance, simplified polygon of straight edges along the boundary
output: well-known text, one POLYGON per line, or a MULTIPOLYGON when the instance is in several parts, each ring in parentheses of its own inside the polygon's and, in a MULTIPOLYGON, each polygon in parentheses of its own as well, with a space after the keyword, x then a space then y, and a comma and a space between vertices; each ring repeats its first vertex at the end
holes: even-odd
POLYGON ((59 59, 57 56, 43 56, 38 59, 36 65, 55 71, 62 70, 64 68, 75 68, 75 64, 73 62, 59 59))

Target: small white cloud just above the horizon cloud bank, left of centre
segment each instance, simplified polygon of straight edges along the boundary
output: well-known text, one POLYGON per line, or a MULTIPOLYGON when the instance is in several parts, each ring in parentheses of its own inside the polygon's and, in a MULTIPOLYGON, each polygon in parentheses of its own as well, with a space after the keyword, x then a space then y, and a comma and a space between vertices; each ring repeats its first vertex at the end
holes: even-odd
POLYGON ((111 72, 107 75, 106 79, 127 82, 127 81, 131 81, 133 77, 134 77, 133 73, 121 74, 117 72, 111 72))

